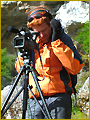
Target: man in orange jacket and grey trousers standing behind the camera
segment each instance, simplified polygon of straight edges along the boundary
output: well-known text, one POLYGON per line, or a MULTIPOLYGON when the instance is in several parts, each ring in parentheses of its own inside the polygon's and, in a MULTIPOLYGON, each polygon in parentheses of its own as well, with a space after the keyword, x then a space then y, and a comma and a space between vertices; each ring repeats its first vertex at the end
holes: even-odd
MULTIPOLYGON (((27 26, 35 32, 39 32, 36 42, 39 46, 35 49, 35 70, 40 80, 39 85, 46 100, 52 119, 70 119, 72 111, 71 94, 74 92, 72 76, 76 75, 82 68, 82 59, 74 47, 71 38, 64 33, 59 21, 52 19, 51 13, 42 6, 36 7, 28 13, 27 26), (43 79, 43 73, 45 79, 43 79)), ((15 64, 16 70, 20 71, 20 64, 23 65, 23 58, 15 64)), ((40 95, 36 89, 33 77, 29 74, 29 84, 41 106, 43 106, 40 95)), ((29 92, 30 109, 26 119, 45 119, 38 103, 34 102, 29 92)))

